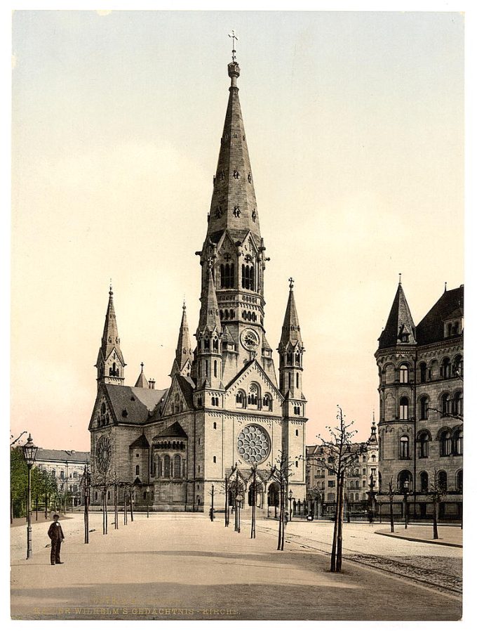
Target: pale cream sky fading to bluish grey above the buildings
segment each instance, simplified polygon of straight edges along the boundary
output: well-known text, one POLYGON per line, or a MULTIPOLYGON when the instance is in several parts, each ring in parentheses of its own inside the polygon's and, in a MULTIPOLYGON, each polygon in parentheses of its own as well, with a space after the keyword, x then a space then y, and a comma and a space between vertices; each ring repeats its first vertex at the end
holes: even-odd
MULTIPOLYGON (((295 279, 307 443, 378 417, 399 273, 415 324, 464 282, 460 13, 15 11, 11 434, 89 449, 109 279, 126 384, 168 387, 238 33, 276 349, 295 279)), ((276 366, 277 353, 274 353, 276 366)))

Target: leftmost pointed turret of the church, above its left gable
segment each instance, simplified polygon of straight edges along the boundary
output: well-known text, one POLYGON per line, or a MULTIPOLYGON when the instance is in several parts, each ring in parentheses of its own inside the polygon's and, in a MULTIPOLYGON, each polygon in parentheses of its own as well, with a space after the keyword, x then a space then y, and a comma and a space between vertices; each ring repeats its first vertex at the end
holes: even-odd
POLYGON ((100 383, 122 385, 126 363, 120 346, 116 313, 114 311, 113 289, 109 286, 105 327, 102 332, 101 347, 95 367, 98 369, 98 387, 100 383))

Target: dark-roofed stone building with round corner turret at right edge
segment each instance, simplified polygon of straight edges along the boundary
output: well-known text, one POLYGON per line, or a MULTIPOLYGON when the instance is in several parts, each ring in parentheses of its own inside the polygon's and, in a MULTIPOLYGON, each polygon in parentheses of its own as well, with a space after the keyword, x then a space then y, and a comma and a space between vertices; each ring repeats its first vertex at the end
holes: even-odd
POLYGON ((398 494, 410 493, 415 516, 425 517, 437 485, 448 500, 443 509, 461 510, 464 285, 446 289, 415 326, 399 282, 375 358, 381 493, 392 481, 398 494))

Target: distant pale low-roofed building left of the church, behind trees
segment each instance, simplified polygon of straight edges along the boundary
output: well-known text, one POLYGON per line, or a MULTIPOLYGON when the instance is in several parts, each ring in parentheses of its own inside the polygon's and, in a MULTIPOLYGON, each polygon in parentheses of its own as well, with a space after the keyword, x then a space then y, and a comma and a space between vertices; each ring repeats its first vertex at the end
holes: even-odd
POLYGON ((85 465, 89 462, 89 451, 67 451, 39 447, 36 452, 35 466, 43 469, 55 479, 58 493, 69 493, 69 505, 79 506, 83 503, 81 476, 85 465))

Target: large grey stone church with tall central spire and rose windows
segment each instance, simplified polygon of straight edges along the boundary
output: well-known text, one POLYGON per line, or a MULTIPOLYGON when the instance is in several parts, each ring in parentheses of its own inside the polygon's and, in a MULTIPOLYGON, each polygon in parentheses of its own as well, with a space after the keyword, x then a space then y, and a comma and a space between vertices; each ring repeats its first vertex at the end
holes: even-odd
MULTIPOLYGON (((155 511, 208 510, 213 489, 215 507, 220 507, 225 480, 232 474, 244 508, 251 502, 259 508, 275 506, 278 483, 271 471, 281 454, 290 467, 287 497, 291 493, 302 500, 306 495, 304 346, 290 278, 277 381, 264 328, 269 259, 260 233, 234 53, 213 195, 210 211, 204 213, 206 236, 196 252, 201 310, 194 346, 184 305, 168 387, 156 389, 143 370, 134 386, 126 385, 110 287, 95 365, 92 479, 133 484, 136 507, 147 502, 155 511), (250 493, 253 476, 256 493, 250 493)), ((100 504, 100 495, 93 489, 93 505, 100 504)), ((235 499, 229 497, 229 502, 235 499)))

